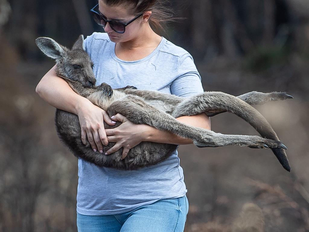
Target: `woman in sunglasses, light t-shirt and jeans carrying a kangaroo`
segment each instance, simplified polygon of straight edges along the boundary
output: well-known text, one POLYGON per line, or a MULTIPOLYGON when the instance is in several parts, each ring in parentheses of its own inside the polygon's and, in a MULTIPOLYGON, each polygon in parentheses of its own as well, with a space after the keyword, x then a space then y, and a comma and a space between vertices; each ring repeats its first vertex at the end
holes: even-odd
MULTIPOLYGON (((166 16, 164 9, 157 8, 162 6, 160 3, 99 0, 91 10, 95 21, 106 32, 95 32, 84 41, 84 48, 94 62, 97 85, 102 82, 112 88, 133 85, 183 97, 203 92, 191 55, 150 27, 160 26, 160 19, 166 16)), ((44 75, 36 92, 50 105, 78 115, 82 140, 85 143, 88 139, 94 152, 102 153, 103 145, 108 142, 116 144, 105 155, 124 148, 123 157, 142 141, 192 144, 192 140, 170 132, 135 125, 121 114, 108 115, 57 77, 55 67, 44 75), (117 120, 123 123, 104 130, 103 120, 109 125, 117 120)), ((177 120, 210 129, 205 114, 177 120)), ((79 159, 78 177, 79 232, 184 230, 188 201, 177 151, 158 165, 135 171, 97 167, 79 159)))

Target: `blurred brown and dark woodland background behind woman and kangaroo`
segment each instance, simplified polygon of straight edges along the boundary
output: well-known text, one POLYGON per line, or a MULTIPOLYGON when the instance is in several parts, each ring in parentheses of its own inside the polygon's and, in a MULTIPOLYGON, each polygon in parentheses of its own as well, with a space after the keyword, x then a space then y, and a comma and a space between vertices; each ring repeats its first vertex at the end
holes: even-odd
MULTIPOLYGON (((205 91, 294 96, 256 107, 289 148, 291 173, 270 150, 180 146, 185 231, 309 231, 309 1, 170 2, 186 19, 160 34, 192 54, 205 91), (239 229, 250 218, 259 230, 239 229)), ((0 0, 0 231, 77 231, 77 159, 57 137, 55 109, 35 93, 54 65, 35 39, 71 47, 103 32, 89 14, 95 4, 0 0)), ((216 132, 256 135, 235 115, 211 120, 216 132)))

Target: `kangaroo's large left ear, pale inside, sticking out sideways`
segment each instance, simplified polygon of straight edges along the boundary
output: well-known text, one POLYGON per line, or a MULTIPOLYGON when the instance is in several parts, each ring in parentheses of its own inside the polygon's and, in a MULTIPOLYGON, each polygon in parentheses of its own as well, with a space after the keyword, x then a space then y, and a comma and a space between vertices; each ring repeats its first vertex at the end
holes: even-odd
POLYGON ((36 45, 45 55, 53 59, 60 59, 65 54, 63 48, 56 41, 48 37, 37 38, 36 45))

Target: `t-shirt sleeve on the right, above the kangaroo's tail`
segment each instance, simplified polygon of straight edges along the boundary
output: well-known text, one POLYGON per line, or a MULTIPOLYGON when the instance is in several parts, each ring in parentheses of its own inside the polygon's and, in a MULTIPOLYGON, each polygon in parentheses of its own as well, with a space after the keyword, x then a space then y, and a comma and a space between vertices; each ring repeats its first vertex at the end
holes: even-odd
POLYGON ((178 64, 177 78, 171 83, 171 94, 179 97, 190 97, 204 92, 201 76, 190 54, 184 54, 178 64))

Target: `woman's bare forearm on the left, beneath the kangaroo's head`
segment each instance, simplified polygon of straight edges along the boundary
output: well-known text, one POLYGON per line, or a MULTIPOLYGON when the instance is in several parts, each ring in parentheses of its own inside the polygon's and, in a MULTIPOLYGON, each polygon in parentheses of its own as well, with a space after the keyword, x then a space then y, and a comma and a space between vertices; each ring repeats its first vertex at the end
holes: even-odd
POLYGON ((56 75, 55 66, 40 80, 36 93, 50 105, 73 114, 77 114, 83 104, 91 103, 87 98, 75 93, 64 79, 56 75))

